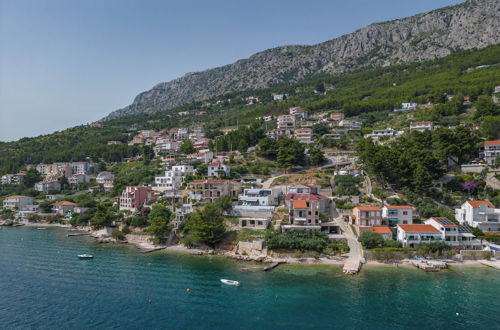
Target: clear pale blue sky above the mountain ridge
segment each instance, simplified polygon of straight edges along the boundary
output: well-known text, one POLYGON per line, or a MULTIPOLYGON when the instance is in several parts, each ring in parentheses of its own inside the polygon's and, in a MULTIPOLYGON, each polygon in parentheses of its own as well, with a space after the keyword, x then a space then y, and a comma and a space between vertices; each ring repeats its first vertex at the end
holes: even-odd
POLYGON ((0 0, 0 141, 90 123, 159 82, 462 0, 0 0))

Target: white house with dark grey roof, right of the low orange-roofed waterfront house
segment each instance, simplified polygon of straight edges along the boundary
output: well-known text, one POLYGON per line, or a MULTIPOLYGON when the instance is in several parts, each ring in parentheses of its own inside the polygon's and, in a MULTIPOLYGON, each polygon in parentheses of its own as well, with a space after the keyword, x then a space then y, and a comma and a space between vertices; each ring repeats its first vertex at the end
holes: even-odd
POLYGON ((464 250, 480 250, 481 242, 476 239, 472 231, 464 226, 451 222, 448 218, 432 217, 425 221, 441 233, 441 239, 448 245, 460 247, 464 250))

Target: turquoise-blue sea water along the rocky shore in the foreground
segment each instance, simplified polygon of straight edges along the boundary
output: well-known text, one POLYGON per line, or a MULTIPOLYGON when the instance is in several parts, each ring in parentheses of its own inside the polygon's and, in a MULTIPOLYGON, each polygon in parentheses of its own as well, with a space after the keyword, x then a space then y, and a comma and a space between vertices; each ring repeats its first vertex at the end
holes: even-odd
POLYGON ((98 245, 59 228, 0 229, 1 329, 498 329, 500 273, 280 266, 98 245), (76 255, 91 253, 93 260, 76 255), (220 278, 242 282, 220 284, 220 278), (187 294, 186 288, 191 289, 187 294), (151 299, 151 303, 148 300, 151 299), (457 316, 456 313, 459 313, 457 316))

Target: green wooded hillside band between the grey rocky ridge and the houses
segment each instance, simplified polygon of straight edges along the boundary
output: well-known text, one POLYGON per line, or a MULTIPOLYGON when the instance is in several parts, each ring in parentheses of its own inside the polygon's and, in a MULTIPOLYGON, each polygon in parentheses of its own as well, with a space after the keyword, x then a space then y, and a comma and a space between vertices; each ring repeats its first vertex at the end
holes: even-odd
MULTIPOLYGON (((301 106, 312 113, 343 110, 348 118, 361 120, 366 130, 387 126, 399 129, 407 125, 407 119, 388 114, 401 102, 434 103, 443 93, 462 94, 472 101, 481 95, 491 95, 493 87, 499 83, 499 59, 500 46, 491 46, 423 63, 321 75, 296 85, 235 92, 211 100, 212 105, 203 107, 205 113, 199 116, 181 115, 182 111, 202 106, 201 103, 189 103, 168 112, 110 120, 103 127, 78 126, 35 138, 0 143, 0 174, 13 173, 25 164, 33 163, 88 158, 119 162, 125 157, 141 154, 139 146, 126 144, 139 129, 160 130, 202 124, 206 131, 210 131, 237 123, 251 124, 256 117, 285 113, 290 106, 301 106), (325 94, 313 93, 318 82, 324 83, 328 89, 325 94), (290 92, 291 95, 286 101, 274 102, 270 98, 273 91, 290 92), (245 101, 247 95, 257 95, 261 102, 249 106, 245 101), (108 144, 109 141, 123 144, 108 144)), ((481 124, 467 113, 443 115, 437 111, 422 111, 415 116, 442 125, 467 121, 481 124)))

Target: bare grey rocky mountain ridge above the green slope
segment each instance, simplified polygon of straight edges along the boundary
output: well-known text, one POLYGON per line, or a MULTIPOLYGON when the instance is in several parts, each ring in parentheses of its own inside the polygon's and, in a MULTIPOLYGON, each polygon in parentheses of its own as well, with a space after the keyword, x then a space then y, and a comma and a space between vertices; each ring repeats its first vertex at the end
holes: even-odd
POLYGON ((339 74, 419 62, 500 42, 500 1, 462 4, 375 23, 313 46, 268 49, 233 64, 157 84, 104 120, 165 111, 232 91, 296 83, 317 73, 339 74))

